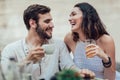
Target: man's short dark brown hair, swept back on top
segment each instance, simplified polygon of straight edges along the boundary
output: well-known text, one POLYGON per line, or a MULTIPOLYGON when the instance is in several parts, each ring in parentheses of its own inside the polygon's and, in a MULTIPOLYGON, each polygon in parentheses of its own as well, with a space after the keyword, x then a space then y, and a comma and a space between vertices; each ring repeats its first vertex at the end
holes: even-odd
POLYGON ((23 19, 26 25, 26 28, 30 29, 29 20, 33 19, 36 23, 38 23, 39 16, 38 14, 46 14, 50 12, 50 8, 44 5, 33 4, 28 6, 27 9, 24 10, 23 19))

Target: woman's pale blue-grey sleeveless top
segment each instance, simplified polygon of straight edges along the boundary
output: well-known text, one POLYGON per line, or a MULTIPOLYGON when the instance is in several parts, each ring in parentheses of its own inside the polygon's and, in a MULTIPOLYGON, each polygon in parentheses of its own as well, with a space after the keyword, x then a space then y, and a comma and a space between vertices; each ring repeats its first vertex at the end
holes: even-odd
POLYGON ((77 42, 73 56, 74 63, 79 68, 89 69, 95 73, 97 78, 103 78, 104 67, 102 64, 102 60, 98 56, 87 59, 85 54, 84 42, 77 42))

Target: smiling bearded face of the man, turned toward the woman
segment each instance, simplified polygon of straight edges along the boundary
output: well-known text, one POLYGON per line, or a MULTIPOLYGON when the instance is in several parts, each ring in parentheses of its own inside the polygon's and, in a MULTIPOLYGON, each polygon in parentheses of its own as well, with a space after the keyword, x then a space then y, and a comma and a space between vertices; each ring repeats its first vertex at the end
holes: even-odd
POLYGON ((40 38, 50 39, 52 38, 52 30, 53 30, 52 17, 50 13, 39 14, 39 20, 37 23, 36 32, 40 38))

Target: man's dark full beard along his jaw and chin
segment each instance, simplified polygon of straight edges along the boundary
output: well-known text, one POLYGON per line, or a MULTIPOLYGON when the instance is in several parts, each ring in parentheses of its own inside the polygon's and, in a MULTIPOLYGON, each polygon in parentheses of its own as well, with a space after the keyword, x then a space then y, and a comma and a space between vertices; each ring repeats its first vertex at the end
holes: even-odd
POLYGON ((49 36, 47 33, 45 33, 45 30, 43 30, 39 24, 37 24, 36 32, 42 39, 51 39, 52 36, 49 36))

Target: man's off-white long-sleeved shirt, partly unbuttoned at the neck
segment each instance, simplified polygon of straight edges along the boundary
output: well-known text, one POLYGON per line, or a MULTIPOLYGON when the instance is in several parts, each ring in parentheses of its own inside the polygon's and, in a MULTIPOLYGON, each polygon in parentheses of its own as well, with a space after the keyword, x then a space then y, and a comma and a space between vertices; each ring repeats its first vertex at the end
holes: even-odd
MULTIPOLYGON (((55 49, 53 54, 45 55, 44 59, 41 61, 41 74, 39 63, 30 64, 24 67, 26 72, 30 72, 32 74, 33 80, 38 80, 39 78, 50 80, 51 76, 59 71, 59 60, 61 69, 70 69, 74 65, 63 41, 50 40, 49 44, 54 44, 55 49)), ((20 63, 23 59, 25 59, 27 52, 28 48, 25 43, 25 39, 7 45, 1 54, 3 71, 7 72, 10 57, 14 57, 17 62, 20 63)))

